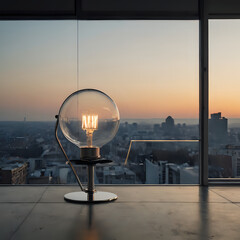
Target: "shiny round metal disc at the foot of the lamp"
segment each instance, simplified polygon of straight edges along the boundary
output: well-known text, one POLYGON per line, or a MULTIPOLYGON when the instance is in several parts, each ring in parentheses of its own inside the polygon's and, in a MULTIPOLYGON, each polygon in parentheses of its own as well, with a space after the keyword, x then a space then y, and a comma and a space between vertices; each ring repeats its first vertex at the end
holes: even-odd
POLYGON ((64 199, 74 203, 103 203, 116 200, 118 197, 114 193, 96 191, 89 196, 86 192, 71 192, 64 195, 64 199))

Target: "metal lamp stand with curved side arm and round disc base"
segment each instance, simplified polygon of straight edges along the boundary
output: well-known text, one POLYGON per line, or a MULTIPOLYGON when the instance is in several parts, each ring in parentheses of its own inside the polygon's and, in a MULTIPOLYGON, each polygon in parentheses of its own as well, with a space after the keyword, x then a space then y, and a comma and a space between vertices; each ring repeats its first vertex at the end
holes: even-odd
POLYGON ((101 202, 110 202, 116 200, 118 197, 114 193, 110 192, 101 192, 96 191, 94 186, 94 168, 96 164, 104 164, 104 163, 110 163, 111 160, 101 159, 101 158, 82 158, 80 160, 72 160, 70 161, 66 152, 63 149, 63 146, 58 138, 57 130, 59 125, 59 118, 58 115, 55 116, 57 119, 56 126, 55 126, 55 137, 57 140, 57 143, 62 150, 65 158, 67 159, 67 164, 71 167, 73 174, 75 175, 78 185, 81 188, 80 192, 71 192, 64 195, 64 199, 69 202, 75 202, 75 203, 101 203, 101 202), (88 166, 88 184, 87 189, 84 189, 81 181, 77 175, 77 172, 73 166, 73 163, 76 165, 87 165, 88 166))

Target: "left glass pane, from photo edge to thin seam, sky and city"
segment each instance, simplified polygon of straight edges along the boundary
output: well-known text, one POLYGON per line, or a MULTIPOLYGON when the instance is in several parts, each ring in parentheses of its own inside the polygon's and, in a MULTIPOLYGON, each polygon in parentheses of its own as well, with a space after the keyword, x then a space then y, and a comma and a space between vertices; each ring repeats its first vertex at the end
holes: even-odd
POLYGON ((0 22, 0 183, 58 183, 67 176, 54 116, 77 89, 76 25, 0 22))

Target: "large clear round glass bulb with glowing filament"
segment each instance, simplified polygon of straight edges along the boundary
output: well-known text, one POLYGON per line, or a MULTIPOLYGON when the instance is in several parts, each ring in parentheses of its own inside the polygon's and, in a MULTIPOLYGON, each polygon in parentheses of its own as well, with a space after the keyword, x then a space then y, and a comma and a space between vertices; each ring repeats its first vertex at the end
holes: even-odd
POLYGON ((72 93, 59 110, 64 136, 81 149, 99 148, 116 135, 119 111, 114 101, 96 89, 72 93))

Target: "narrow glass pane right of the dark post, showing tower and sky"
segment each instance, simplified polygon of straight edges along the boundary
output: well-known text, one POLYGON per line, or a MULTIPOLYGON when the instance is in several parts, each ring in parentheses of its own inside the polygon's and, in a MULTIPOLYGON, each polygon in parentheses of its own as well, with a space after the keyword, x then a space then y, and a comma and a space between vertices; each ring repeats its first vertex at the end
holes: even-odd
POLYGON ((210 21, 209 177, 240 177, 240 20, 210 21))

